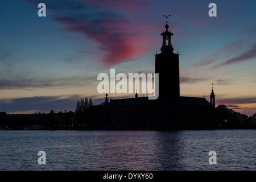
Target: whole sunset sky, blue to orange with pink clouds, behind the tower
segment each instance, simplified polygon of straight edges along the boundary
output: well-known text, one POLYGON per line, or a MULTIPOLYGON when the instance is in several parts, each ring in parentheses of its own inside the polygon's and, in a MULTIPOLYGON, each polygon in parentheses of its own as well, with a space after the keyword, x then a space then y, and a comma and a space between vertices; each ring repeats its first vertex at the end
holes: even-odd
MULTIPOLYGON (((180 54, 180 95, 256 112, 256 2, 0 1, 0 112, 75 111, 104 101, 97 76, 154 73, 166 19, 180 54), (46 17, 38 4, 46 4, 46 17), (209 3, 217 16, 210 17, 209 3)), ((170 72, 172 68, 170 68, 170 72)), ((166 83, 172 85, 172 80, 166 83)), ((110 98, 134 94, 109 94, 110 98)), ((138 94, 139 97, 142 93, 138 94)))

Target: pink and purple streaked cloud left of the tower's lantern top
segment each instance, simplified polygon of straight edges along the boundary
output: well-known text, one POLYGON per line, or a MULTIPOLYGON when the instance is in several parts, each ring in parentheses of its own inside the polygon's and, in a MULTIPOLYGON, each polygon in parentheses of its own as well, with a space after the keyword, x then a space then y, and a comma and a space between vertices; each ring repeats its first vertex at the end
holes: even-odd
POLYGON ((129 27, 122 26, 124 20, 113 19, 105 22, 86 22, 72 18, 58 18, 71 32, 80 32, 86 38, 98 43, 98 54, 102 55, 105 64, 114 65, 140 55, 145 50, 138 45, 146 38, 129 27))

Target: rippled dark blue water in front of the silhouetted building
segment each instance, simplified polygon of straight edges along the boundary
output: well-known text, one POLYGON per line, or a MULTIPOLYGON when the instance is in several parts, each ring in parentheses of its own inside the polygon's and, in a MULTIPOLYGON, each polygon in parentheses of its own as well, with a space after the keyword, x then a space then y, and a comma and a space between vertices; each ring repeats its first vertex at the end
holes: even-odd
POLYGON ((0 170, 255 170, 256 130, 0 131, 0 170), (46 165, 38 152, 46 152, 46 165), (208 163, 216 151, 217 164, 208 163))

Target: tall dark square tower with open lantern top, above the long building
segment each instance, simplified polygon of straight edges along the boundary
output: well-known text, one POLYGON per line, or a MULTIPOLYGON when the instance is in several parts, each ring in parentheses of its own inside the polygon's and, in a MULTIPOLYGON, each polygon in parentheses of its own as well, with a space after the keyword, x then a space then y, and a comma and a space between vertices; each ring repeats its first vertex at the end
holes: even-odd
POLYGON ((180 105, 179 53, 172 47, 172 32, 168 22, 163 31, 161 52, 155 55, 155 73, 159 74, 159 97, 156 105, 160 108, 159 119, 165 122, 177 122, 180 105))

